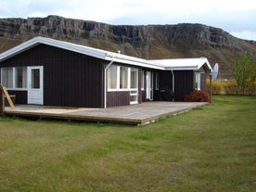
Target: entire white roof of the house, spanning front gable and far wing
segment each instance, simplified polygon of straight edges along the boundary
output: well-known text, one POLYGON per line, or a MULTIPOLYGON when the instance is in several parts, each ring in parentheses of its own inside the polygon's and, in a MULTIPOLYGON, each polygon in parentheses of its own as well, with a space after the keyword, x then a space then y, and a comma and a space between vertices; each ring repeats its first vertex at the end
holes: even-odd
POLYGON ((156 70, 198 70, 202 66, 206 70, 211 70, 211 65, 207 58, 173 58, 173 59, 159 59, 147 60, 143 58, 134 58, 125 56, 119 53, 105 51, 102 49, 92 48, 85 45, 76 45, 69 42, 58 41, 55 39, 45 37, 34 37, 31 40, 17 45, 6 52, 0 54, 0 62, 7 58, 14 57, 20 53, 31 49, 37 45, 51 45, 58 48, 70 50, 86 56, 100 58, 114 62, 120 62, 128 65, 140 66, 156 70))

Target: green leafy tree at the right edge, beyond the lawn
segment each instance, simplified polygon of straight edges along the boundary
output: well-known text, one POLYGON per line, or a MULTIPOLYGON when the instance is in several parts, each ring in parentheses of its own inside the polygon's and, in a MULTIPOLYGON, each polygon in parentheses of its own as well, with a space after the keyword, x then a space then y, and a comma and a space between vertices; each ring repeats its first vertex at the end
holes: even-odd
POLYGON ((245 89, 256 79, 256 69, 252 65, 249 52, 244 52, 242 57, 236 60, 234 77, 237 84, 241 87, 243 94, 245 94, 245 89))

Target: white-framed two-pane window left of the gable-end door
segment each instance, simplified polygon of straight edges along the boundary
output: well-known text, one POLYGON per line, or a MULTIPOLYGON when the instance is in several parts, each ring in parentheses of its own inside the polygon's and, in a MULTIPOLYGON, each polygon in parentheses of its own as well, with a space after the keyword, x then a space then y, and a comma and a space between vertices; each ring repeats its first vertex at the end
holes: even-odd
POLYGON ((27 67, 2 68, 1 77, 1 83, 6 88, 27 88, 27 67))

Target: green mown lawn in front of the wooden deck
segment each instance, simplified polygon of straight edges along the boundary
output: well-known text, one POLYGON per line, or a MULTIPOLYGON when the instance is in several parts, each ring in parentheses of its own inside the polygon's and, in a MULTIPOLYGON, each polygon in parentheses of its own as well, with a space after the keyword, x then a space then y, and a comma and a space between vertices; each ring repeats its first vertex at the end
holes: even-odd
POLYGON ((0 118, 0 191, 254 191, 256 97, 142 127, 0 118))

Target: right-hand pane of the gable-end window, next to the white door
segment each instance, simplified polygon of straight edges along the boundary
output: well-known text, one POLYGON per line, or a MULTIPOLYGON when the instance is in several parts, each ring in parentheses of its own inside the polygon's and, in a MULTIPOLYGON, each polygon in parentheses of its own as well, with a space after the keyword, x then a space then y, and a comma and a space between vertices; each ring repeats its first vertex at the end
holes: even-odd
POLYGON ((15 68, 15 86, 16 88, 27 87, 27 68, 26 67, 15 68))

